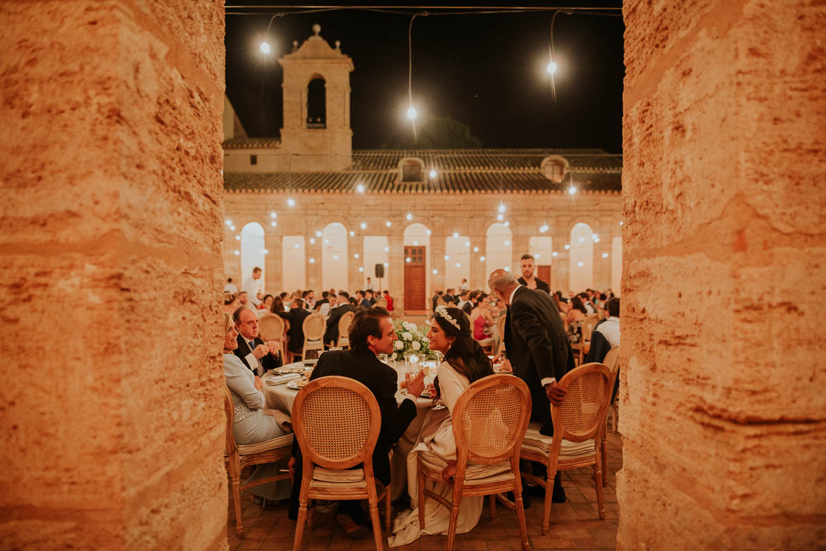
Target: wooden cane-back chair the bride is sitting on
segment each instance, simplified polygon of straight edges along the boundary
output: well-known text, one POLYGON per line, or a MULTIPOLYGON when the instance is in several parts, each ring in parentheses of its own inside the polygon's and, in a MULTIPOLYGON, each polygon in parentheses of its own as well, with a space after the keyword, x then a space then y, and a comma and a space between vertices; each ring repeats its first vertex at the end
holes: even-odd
POLYGON ((490 496, 493 520, 496 518, 496 494, 514 492, 522 549, 527 551, 528 531, 522 505, 519 458, 530 418, 528 386, 520 378, 504 373, 482 378, 459 395, 452 417, 457 450, 453 501, 425 490, 425 478, 444 482, 442 470, 447 463, 437 455, 419 452, 416 470, 420 527, 425 528, 425 499, 430 497, 450 511, 445 549, 452 551, 463 496, 490 496))

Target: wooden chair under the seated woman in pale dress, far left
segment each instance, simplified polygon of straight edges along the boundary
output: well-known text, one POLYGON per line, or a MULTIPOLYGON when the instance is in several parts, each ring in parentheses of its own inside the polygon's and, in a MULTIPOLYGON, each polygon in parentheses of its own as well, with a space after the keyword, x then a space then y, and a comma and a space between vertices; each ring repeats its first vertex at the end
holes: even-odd
POLYGON ((232 434, 232 427, 235 425, 235 405, 232 401, 230 389, 224 387, 226 391, 224 397, 224 411, 226 413, 226 451, 224 452, 224 467, 230 475, 230 487, 232 487, 232 501, 235 505, 235 533, 239 538, 244 537, 244 525, 241 524, 241 492, 248 488, 259 486, 277 480, 285 480, 290 477, 289 473, 278 474, 274 477, 266 477, 249 482, 241 486, 241 470, 251 465, 261 465, 263 463, 273 463, 290 457, 292 450, 292 435, 283 435, 271 440, 259 442, 259 444, 235 444, 235 435, 232 434))

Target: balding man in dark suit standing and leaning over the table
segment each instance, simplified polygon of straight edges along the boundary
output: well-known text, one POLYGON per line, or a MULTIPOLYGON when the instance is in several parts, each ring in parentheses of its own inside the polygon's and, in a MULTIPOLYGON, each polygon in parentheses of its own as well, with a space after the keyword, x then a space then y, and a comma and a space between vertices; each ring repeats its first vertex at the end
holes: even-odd
MULTIPOLYGON (((508 305, 505 321, 505 347, 513 373, 525 381, 532 401, 530 418, 539 420, 539 433, 553 435, 551 402, 558 405, 566 392, 557 382, 575 367, 571 343, 562 318, 547 292, 520 285, 513 274, 503 269, 491 273, 487 284, 508 305)), ((534 474, 547 469, 534 464, 534 474)), ((559 476, 553 481, 552 499, 565 501, 559 476)))

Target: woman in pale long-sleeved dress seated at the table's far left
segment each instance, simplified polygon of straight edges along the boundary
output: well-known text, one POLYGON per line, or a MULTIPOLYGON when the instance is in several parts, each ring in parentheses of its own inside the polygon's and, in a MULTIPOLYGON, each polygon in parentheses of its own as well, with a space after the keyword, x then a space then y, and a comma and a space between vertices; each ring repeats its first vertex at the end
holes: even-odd
MULTIPOLYGON (((230 389, 235 409, 235 423, 232 435, 235 444, 258 444, 292 432, 289 416, 281 411, 264 409, 261 378, 254 375, 235 355, 238 347, 238 331, 235 330, 228 314, 224 314, 224 378, 230 389)), ((259 465, 247 482, 273 477, 279 469, 286 468, 287 462, 259 465)), ((254 499, 282 500, 290 496, 290 481, 279 480, 253 487, 249 493, 254 499)), ((266 505, 266 504, 264 504, 266 505)))

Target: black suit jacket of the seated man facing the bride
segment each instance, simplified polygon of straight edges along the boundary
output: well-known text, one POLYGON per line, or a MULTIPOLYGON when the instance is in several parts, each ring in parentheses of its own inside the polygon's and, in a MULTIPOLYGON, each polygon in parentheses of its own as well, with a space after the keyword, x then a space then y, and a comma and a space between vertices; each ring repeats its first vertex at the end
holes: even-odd
MULTIPOLYGON (((382 428, 373 449, 373 474, 377 480, 389 486, 390 458, 387 454, 415 419, 415 401, 404 400, 401 404, 396 403, 396 370, 378 361, 376 354, 370 350, 334 350, 321 354, 310 380, 330 375, 353 378, 368 387, 376 397, 378 408, 382 411, 382 428)), ((296 457, 296 476, 292 481, 290 518, 293 518, 294 514, 297 515, 302 470, 301 449, 297 444, 293 445, 292 452, 296 457)))

